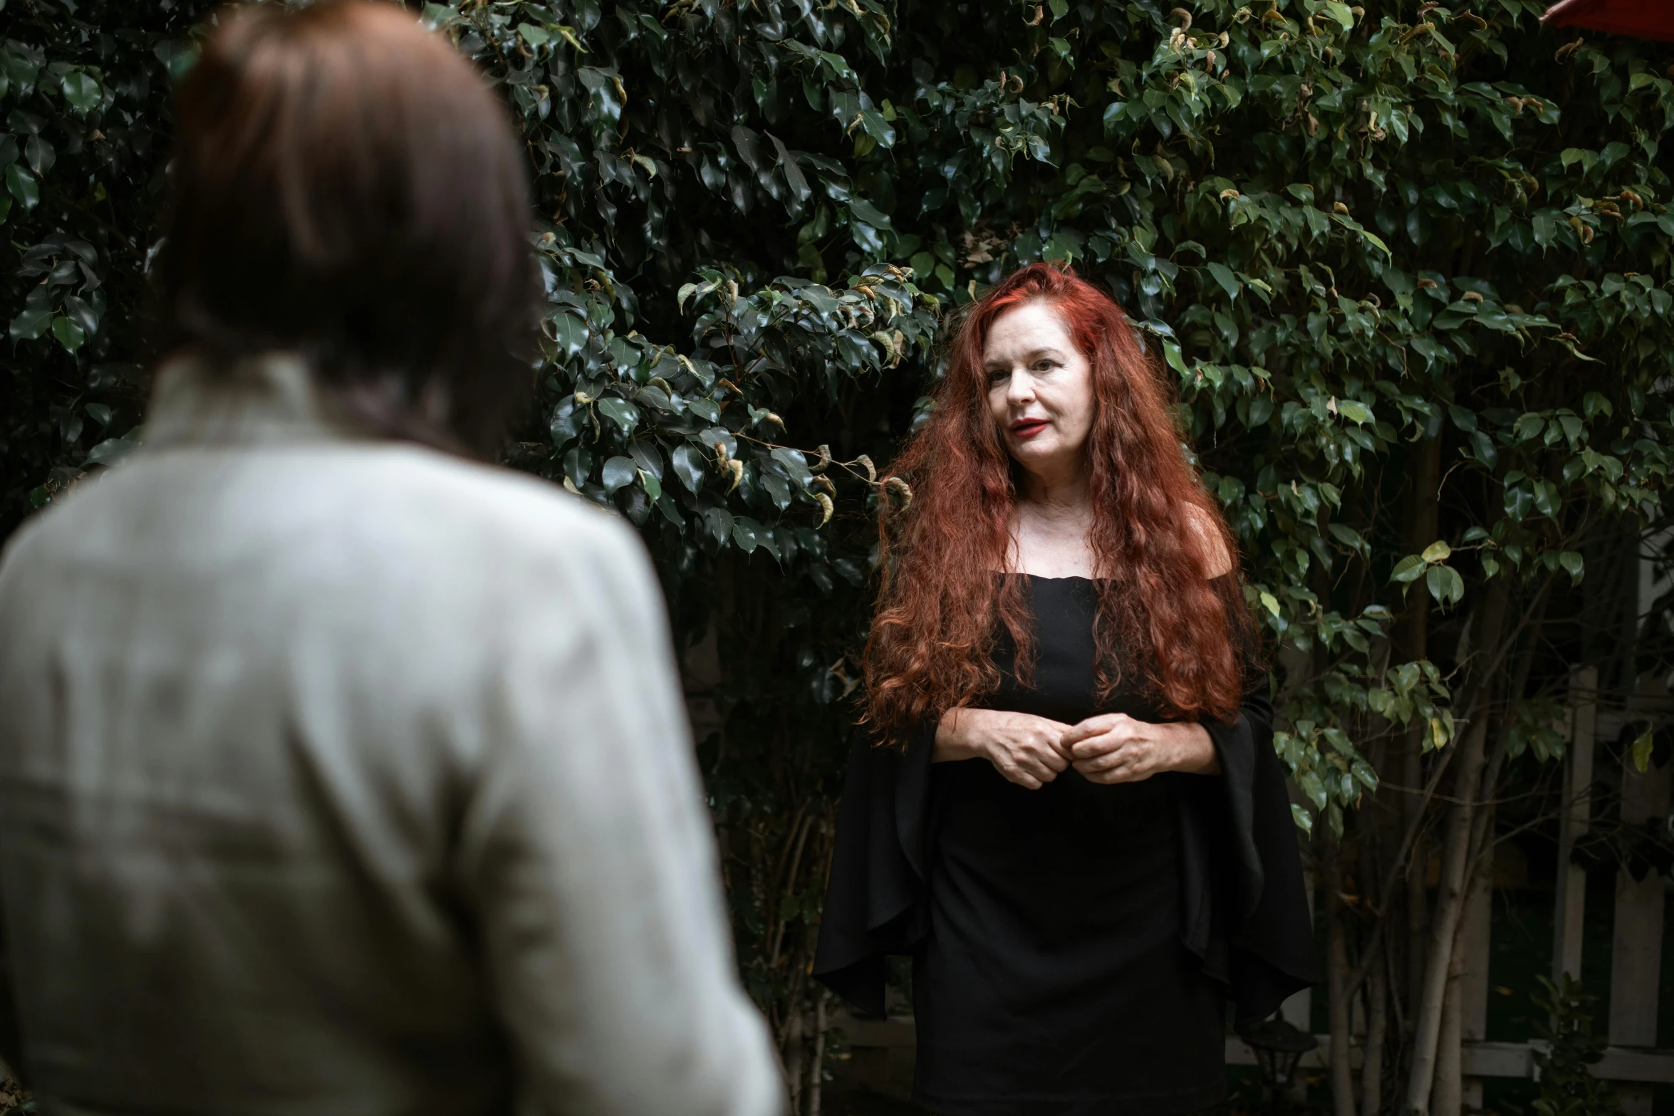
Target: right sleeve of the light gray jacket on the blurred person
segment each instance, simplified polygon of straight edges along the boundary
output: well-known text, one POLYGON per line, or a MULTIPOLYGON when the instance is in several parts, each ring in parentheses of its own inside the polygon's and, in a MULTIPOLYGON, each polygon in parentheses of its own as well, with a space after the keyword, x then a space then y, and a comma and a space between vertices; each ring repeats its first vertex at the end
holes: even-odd
POLYGON ((516 1109, 773 1116, 783 1086, 737 975, 661 596, 638 540, 606 527, 521 594, 464 811, 516 1109))

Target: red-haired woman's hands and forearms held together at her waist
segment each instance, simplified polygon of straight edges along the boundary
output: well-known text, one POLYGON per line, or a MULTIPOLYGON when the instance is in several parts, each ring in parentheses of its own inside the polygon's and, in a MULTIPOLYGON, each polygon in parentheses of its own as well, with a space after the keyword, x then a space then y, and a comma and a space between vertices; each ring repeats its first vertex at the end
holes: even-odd
POLYGON ((1195 721, 1153 724, 1100 713, 1065 724, 1033 713, 949 709, 936 726, 932 761, 984 758, 1018 786, 1040 790, 1075 768, 1090 783, 1138 783, 1158 771, 1215 775, 1220 761, 1195 721))

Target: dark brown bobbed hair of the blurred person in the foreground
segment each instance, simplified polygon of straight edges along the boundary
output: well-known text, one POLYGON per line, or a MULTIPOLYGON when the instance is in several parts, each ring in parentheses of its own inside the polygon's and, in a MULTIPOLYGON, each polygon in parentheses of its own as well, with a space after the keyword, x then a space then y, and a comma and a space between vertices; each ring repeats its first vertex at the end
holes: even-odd
POLYGON ((393 3, 223 10, 181 84, 167 341, 310 360, 368 432, 490 452, 532 383, 529 187, 506 110, 393 3))

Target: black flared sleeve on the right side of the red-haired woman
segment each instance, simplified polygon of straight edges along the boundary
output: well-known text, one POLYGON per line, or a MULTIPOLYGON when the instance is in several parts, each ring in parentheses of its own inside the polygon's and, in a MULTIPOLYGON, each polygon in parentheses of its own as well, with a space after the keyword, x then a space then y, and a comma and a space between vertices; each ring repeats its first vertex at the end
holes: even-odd
POLYGON ((1252 679, 1230 723, 1204 721, 1220 775, 1182 776, 1180 793, 1182 935, 1227 984, 1239 1019, 1271 1016, 1319 980, 1269 686, 1252 679))

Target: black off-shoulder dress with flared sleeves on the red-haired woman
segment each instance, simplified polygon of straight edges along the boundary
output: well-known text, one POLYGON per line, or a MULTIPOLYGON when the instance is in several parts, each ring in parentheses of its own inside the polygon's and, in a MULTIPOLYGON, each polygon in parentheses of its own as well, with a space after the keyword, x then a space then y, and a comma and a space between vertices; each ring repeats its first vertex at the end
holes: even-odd
MULTIPOLYGON (((1095 698, 1093 584, 1030 577, 1033 688, 984 703, 1076 723, 1157 721, 1133 686, 1095 698)), ((986 760, 857 743, 815 977, 882 1014, 884 959, 912 955, 914 1099, 937 1116, 1165 1116, 1225 1093, 1225 1004, 1272 1014, 1316 980, 1272 706, 1261 678, 1205 723, 1222 773, 1041 790, 986 760)))

